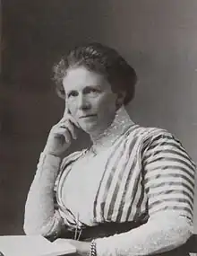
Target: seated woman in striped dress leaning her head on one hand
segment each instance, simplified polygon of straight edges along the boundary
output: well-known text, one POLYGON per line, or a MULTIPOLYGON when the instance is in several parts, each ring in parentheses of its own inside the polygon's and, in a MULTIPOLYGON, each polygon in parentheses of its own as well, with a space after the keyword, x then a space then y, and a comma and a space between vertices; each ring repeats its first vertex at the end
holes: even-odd
POLYGON ((63 58, 55 80, 64 117, 40 154, 25 233, 64 237, 81 255, 187 255, 195 165, 167 130, 130 119, 133 68, 92 43, 63 58), (80 128, 92 145, 64 158, 80 128))

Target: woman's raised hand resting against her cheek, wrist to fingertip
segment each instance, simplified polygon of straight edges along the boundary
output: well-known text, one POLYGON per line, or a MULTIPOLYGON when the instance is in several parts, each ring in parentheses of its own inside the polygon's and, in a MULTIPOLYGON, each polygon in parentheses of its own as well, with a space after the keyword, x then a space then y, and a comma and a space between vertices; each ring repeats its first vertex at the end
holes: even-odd
POLYGON ((77 128, 80 128, 79 124, 69 111, 65 110, 63 119, 49 132, 44 153, 62 157, 65 150, 71 146, 72 140, 77 138, 77 128))

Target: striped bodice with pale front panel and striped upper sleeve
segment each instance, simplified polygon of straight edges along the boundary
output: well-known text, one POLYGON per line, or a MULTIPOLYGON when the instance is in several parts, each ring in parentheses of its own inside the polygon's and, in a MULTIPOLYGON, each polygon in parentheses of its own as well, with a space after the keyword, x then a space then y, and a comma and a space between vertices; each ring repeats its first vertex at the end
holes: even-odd
POLYGON ((66 225, 139 221, 159 211, 193 221, 195 164, 167 130, 132 125, 87 164, 86 154, 67 156, 56 180, 66 225))

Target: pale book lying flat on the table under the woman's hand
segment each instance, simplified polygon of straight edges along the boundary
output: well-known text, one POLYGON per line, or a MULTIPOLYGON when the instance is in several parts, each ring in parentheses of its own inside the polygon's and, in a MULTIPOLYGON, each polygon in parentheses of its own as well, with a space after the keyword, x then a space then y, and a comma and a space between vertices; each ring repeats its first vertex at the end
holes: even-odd
POLYGON ((66 241, 63 246, 41 235, 3 235, 0 236, 0 252, 4 256, 61 256, 72 254, 76 249, 66 241))

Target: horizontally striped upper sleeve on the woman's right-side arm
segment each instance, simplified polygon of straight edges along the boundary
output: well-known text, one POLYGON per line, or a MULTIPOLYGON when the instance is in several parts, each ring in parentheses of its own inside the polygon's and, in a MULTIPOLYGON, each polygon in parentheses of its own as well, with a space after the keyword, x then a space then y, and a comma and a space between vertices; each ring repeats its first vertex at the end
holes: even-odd
POLYGON ((195 164, 181 143, 158 132, 146 140, 142 164, 149 215, 173 210, 193 220, 195 164))

